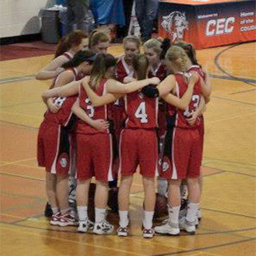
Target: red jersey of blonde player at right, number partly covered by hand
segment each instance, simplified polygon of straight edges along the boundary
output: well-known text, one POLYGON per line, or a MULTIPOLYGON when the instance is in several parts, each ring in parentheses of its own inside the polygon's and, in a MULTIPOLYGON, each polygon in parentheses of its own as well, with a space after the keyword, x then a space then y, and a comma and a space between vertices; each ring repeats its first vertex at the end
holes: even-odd
MULTIPOLYGON (((184 75, 189 78, 189 73, 177 73, 175 75, 176 78, 176 96, 181 98, 184 93, 187 91, 187 81, 184 79, 184 75)), ((192 128, 187 122, 187 118, 191 116, 193 112, 198 108, 200 103, 200 94, 201 94, 201 85, 200 81, 198 81, 194 86, 194 91, 192 95, 192 99, 189 102, 189 107, 186 110, 181 110, 176 108, 176 121, 175 126, 181 128, 192 128)), ((173 107, 170 106, 170 113, 173 114, 173 107)), ((200 125, 200 118, 197 118, 194 127, 198 127, 200 125)))

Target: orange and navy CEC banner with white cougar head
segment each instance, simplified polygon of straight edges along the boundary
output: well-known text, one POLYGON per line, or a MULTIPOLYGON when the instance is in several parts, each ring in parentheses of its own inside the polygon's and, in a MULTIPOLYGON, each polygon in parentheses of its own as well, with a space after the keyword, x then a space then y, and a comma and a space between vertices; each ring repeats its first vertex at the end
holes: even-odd
POLYGON ((179 2, 160 2, 160 37, 191 42, 197 49, 256 39, 255 0, 179 2))

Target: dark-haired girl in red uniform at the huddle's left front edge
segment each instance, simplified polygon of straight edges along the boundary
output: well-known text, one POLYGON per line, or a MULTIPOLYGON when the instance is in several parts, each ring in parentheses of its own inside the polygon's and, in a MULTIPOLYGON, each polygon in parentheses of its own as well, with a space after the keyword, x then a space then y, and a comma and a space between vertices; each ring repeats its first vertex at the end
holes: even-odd
MULTIPOLYGON (((80 79, 80 73, 89 74, 94 60, 94 53, 80 51, 74 58, 64 64, 66 70, 55 80, 55 86, 64 86, 72 80, 80 79)), ((47 101, 48 91, 42 93, 47 101)), ((39 166, 46 170, 46 192, 53 216, 51 225, 74 225, 75 218, 68 206, 68 173, 69 173, 69 124, 72 116, 71 108, 76 97, 56 97, 49 99, 55 113, 48 110, 39 128, 37 143, 37 160, 39 166)))

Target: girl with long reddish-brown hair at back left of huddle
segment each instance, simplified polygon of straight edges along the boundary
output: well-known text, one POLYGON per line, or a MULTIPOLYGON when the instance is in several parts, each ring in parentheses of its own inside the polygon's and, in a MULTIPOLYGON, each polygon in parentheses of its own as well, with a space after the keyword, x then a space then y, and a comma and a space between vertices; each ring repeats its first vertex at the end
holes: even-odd
POLYGON ((38 80, 56 78, 64 69, 62 65, 71 60, 79 50, 87 50, 89 39, 81 30, 75 30, 63 37, 57 46, 55 59, 43 67, 36 75, 38 80))

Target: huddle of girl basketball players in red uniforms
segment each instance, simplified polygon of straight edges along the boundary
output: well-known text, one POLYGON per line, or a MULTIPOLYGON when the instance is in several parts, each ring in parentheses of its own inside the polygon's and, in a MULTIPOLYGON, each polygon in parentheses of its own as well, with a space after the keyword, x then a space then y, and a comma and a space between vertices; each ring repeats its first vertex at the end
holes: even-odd
MULTIPOLYGON (((101 46, 106 50, 109 42, 106 35, 102 38, 101 46)), ((195 233, 203 154, 202 113, 211 92, 195 50, 183 42, 170 46, 167 40, 150 39, 143 44, 142 55, 140 40, 128 36, 124 56, 116 60, 104 50, 93 49, 91 42, 89 45, 91 50, 78 50, 61 65, 64 70, 55 74, 53 89, 42 94, 48 111, 39 129, 38 162, 47 173, 53 210, 50 224, 78 225, 81 233, 112 233, 113 225, 106 220, 108 181, 115 180, 118 172, 117 233, 127 236, 129 192, 139 165, 145 190, 143 237, 152 238, 155 231, 195 233), (84 78, 80 79, 82 73, 84 78), (74 116, 75 126, 70 125, 74 116), (117 144, 118 157, 114 150, 117 144), (78 182, 78 222, 68 206, 70 172, 78 182), (168 181, 169 219, 153 229, 158 174, 168 181), (97 181, 95 223, 88 217, 93 176, 97 181), (179 219, 183 179, 187 181, 189 206, 186 216, 179 219)), ((68 53, 70 50, 64 54, 68 53)))

